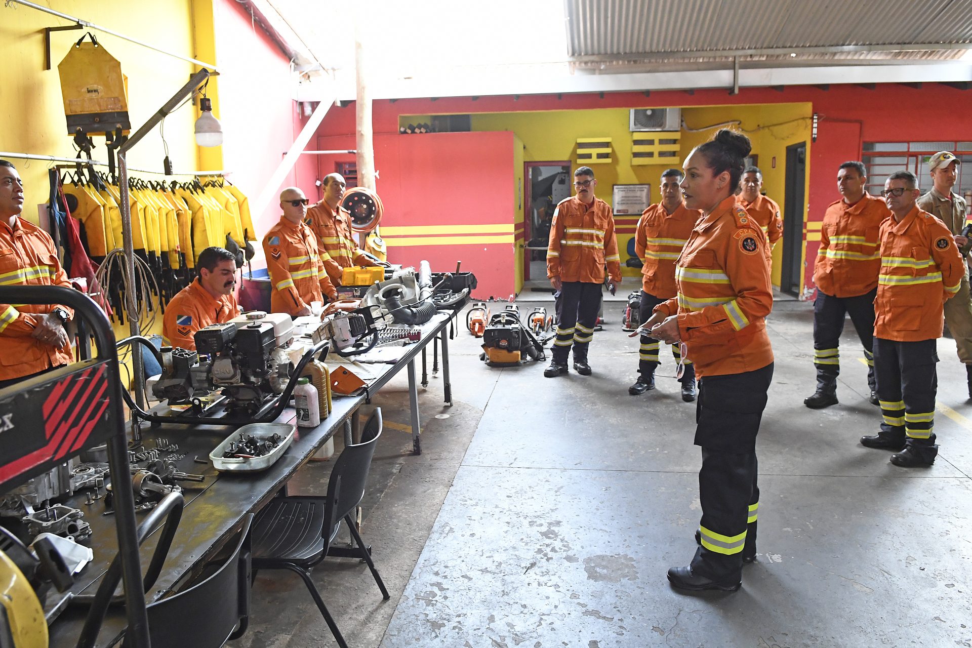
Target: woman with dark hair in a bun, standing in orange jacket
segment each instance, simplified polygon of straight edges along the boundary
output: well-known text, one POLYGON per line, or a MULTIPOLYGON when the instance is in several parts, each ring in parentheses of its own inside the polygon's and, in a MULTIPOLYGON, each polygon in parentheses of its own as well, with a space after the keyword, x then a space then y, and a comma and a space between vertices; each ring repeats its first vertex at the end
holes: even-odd
POLYGON ((695 444, 702 447, 699 547, 669 582, 684 590, 735 592, 756 557, 756 434, 773 378, 765 317, 773 308, 769 244, 734 195, 749 140, 720 130, 689 154, 685 206, 702 218, 676 263, 677 297, 645 323, 663 342, 685 343, 699 382, 695 444))

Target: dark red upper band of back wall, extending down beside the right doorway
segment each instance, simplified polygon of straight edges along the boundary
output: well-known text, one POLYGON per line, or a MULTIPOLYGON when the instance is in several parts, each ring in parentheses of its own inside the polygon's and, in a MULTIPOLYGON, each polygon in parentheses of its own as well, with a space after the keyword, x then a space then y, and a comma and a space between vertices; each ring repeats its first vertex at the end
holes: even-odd
MULTIPOLYGON (((467 113, 503 113, 547 110, 582 110, 623 107, 720 106, 740 104, 773 104, 811 102, 819 116, 816 142, 810 143, 810 190, 808 220, 820 221, 826 206, 840 196, 836 189, 836 168, 848 159, 860 159, 863 142, 914 142, 958 140, 972 141, 972 91, 948 85, 925 84, 919 88, 897 84, 877 85, 867 89, 858 85, 832 85, 829 89, 811 85, 787 86, 782 90, 769 87, 743 88, 738 95, 724 89, 683 90, 599 94, 565 94, 522 96, 450 97, 376 101, 373 106, 376 133, 397 133, 399 115, 452 115, 467 113)), ((322 123, 318 133, 335 135, 354 133, 355 108, 351 104, 335 108, 322 123)), ((399 136, 395 136, 399 137, 399 136)), ((404 135, 403 140, 421 140, 430 135, 404 135)), ((430 139, 430 142, 434 140, 430 139)), ((470 152, 475 157, 475 152, 470 152)), ((376 153, 377 155, 377 153, 376 153)), ((498 169, 499 170, 499 169, 498 169)), ((382 177, 402 173, 441 174, 439 165, 404 169, 389 159, 380 165, 382 177)), ((472 203, 482 188, 502 180, 484 170, 478 189, 466 197, 472 203)), ((503 171, 508 173, 508 171, 503 171)), ((927 181, 922 178, 922 183, 927 181)), ((381 190, 379 186, 379 191, 381 190)), ((382 196, 384 199, 384 195, 382 196)), ((806 282, 813 286, 813 265, 819 244, 807 242, 806 282)))

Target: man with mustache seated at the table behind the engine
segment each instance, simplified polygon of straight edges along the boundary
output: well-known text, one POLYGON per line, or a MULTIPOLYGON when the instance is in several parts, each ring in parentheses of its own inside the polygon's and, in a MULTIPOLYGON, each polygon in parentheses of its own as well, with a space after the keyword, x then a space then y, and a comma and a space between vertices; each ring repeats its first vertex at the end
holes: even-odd
POLYGON ((233 296, 236 260, 224 248, 206 248, 195 262, 196 278, 165 307, 162 343, 195 351, 195 331, 224 324, 240 314, 233 296))

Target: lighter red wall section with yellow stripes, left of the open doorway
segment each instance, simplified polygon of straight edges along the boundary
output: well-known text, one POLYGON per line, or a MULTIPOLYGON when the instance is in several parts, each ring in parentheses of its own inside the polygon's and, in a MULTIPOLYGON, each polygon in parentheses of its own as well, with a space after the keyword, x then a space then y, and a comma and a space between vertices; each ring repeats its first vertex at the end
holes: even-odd
MULTIPOLYGON (((347 109, 344 109, 347 112, 347 109)), ((354 110, 350 111, 352 122, 354 110)), ((353 123, 352 123, 353 125, 353 123)), ((354 136, 319 138, 322 151, 353 149, 354 136)), ((353 161, 354 155, 320 155, 323 178, 335 162, 353 161)), ((417 266, 428 260, 434 272, 463 270, 475 273, 479 285, 474 296, 508 297, 515 290, 515 256, 512 243, 514 195, 513 134, 435 133, 379 134, 374 138, 375 186, 385 207, 383 228, 424 226, 430 231, 386 237, 388 258, 394 263, 417 266), (453 225, 506 223, 509 242, 477 241, 477 233, 440 232, 453 225), (399 238, 400 236, 400 238, 399 238), (435 239, 461 236, 463 242, 435 244, 435 239), (396 245, 397 241, 421 238, 425 245, 396 245)), ((394 231, 394 230, 390 230, 394 231)), ((483 236, 485 234, 479 234, 483 236)))

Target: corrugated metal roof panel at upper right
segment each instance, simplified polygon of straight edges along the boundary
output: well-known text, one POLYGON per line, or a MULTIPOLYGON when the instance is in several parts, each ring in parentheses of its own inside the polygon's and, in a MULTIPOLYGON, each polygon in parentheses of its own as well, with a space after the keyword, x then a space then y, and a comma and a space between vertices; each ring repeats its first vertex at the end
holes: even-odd
MULTIPOLYGON (((564 2, 568 51, 574 58, 638 60, 632 54, 972 43, 972 0, 564 2)), ((954 51, 943 52, 896 52, 896 57, 956 57, 954 51)), ((867 58, 867 53, 856 57, 867 58)))

